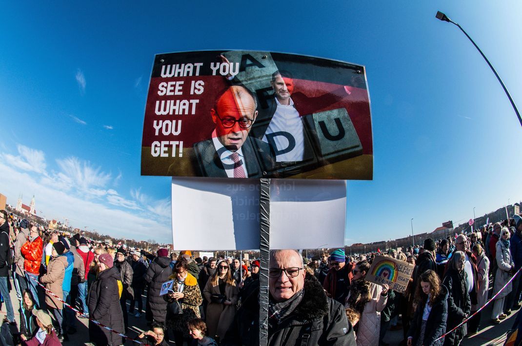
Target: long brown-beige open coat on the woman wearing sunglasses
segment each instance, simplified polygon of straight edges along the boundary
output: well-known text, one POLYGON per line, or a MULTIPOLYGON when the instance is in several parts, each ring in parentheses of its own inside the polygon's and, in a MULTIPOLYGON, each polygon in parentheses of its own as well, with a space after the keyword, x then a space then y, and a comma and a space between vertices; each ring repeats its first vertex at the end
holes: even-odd
POLYGON ((212 294, 220 294, 219 286, 212 286, 212 278, 208 279, 203 294, 208 301, 207 306, 207 331, 208 336, 213 338, 218 335, 223 340, 225 333, 234 321, 235 303, 238 302, 238 287, 227 284, 225 294, 227 299, 232 302, 230 305, 212 303, 210 296, 212 294))

